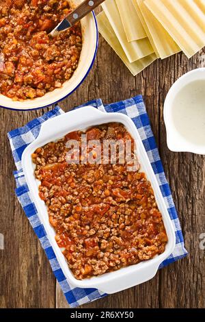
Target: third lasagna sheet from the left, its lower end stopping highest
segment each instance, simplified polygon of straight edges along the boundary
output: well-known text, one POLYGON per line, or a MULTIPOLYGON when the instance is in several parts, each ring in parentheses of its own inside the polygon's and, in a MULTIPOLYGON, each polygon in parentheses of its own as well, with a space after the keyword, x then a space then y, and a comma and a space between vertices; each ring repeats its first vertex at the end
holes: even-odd
POLYGON ((146 38, 147 34, 131 0, 116 0, 128 42, 146 38))

